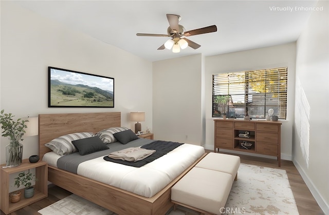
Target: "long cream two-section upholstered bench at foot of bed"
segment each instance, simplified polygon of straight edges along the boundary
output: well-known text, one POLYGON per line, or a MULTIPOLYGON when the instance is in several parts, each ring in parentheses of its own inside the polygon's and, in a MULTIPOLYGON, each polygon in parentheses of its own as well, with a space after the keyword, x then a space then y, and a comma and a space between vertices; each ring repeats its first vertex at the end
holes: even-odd
POLYGON ((206 214, 222 214, 240 157, 209 153, 171 188, 171 201, 206 214))

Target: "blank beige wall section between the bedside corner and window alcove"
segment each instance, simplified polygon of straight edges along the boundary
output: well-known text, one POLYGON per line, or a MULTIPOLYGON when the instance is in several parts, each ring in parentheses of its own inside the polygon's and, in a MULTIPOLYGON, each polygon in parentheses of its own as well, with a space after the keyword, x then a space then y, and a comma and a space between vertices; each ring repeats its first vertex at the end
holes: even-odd
POLYGON ((153 63, 155 139, 204 144, 202 73, 201 54, 153 63))

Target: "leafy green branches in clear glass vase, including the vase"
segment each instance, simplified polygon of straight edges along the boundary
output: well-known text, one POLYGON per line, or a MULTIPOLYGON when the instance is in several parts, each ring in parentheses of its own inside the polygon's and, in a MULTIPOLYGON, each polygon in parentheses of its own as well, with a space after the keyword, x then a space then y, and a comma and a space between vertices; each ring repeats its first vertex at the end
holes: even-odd
POLYGON ((2 136, 8 136, 10 143, 6 146, 6 165, 7 167, 19 166, 23 158, 23 141, 22 137, 25 133, 25 125, 28 120, 17 119, 13 120, 14 115, 11 113, 4 113, 5 110, 0 112, 0 124, 2 136))

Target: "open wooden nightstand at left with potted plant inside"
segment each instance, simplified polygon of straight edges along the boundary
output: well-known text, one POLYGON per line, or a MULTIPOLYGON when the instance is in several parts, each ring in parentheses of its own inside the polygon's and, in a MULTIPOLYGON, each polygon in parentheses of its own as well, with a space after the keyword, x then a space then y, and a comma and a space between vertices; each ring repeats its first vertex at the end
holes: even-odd
POLYGON ((48 197, 48 165, 44 161, 39 161, 36 163, 30 163, 28 159, 24 159, 22 164, 17 167, 12 168, 2 168, 6 166, 3 164, 0 166, 1 172, 1 210, 8 214, 15 210, 21 209, 27 205, 37 202, 41 199, 48 197), (9 201, 9 186, 13 185, 13 182, 9 180, 9 175, 16 172, 26 171, 28 169, 35 168, 35 181, 34 186, 34 196, 29 199, 24 198, 24 188, 20 191, 22 192, 21 200, 19 202, 11 203, 9 201))

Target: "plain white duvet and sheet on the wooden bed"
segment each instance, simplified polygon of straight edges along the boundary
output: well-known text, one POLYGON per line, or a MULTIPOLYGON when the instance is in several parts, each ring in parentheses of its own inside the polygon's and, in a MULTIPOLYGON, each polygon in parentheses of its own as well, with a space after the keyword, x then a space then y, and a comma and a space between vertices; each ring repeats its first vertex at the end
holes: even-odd
MULTIPOLYGON (((105 161, 102 156, 81 163, 78 174, 150 198, 166 187, 204 152, 202 146, 183 144, 139 168, 105 161)), ((43 160, 48 165, 57 167, 59 158, 56 153, 48 152, 43 160)))

